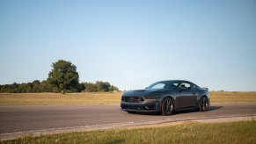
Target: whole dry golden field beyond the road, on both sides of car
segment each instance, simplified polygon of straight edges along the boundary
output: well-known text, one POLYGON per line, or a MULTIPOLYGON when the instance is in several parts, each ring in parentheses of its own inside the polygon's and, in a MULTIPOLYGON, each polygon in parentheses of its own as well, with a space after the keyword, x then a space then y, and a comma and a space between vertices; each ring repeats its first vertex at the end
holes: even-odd
MULTIPOLYGON (((0 105, 120 104, 122 92, 0 93, 0 105)), ((256 102, 256 92, 210 92, 212 103, 256 102)))

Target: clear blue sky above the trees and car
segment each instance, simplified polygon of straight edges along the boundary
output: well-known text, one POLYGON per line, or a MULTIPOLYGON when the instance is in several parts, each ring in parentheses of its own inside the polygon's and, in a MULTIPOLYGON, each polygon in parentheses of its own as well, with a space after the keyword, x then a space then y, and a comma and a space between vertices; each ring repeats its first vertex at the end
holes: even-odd
POLYGON ((121 90, 256 90, 256 1, 0 1, 0 84, 45 80, 60 59, 121 90))

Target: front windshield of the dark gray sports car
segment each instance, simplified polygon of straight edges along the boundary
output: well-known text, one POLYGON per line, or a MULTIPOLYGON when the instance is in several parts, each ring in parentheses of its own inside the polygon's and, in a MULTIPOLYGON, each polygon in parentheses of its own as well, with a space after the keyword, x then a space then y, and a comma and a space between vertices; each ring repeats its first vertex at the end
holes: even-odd
POLYGON ((147 89, 165 89, 165 90, 175 90, 177 89, 179 83, 177 82, 157 82, 151 84, 147 89))

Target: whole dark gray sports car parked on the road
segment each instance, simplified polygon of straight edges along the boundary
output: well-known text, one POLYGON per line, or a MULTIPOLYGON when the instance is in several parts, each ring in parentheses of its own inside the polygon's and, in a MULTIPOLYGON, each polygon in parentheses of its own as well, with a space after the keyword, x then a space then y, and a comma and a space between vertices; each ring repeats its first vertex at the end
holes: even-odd
POLYGON ((133 112, 161 112, 171 115, 179 109, 196 108, 208 111, 208 88, 201 88, 183 80, 161 81, 144 90, 130 90, 121 97, 121 110, 133 112))

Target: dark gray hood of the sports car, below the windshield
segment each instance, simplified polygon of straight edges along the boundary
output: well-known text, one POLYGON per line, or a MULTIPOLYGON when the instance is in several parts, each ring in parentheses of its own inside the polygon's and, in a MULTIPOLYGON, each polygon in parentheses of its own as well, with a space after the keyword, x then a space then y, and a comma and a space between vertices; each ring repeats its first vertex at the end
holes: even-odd
POLYGON ((140 96, 155 96, 162 95, 166 90, 163 89, 143 89, 143 90, 129 90, 125 92, 123 97, 140 97, 140 96))

